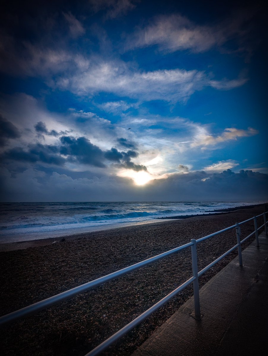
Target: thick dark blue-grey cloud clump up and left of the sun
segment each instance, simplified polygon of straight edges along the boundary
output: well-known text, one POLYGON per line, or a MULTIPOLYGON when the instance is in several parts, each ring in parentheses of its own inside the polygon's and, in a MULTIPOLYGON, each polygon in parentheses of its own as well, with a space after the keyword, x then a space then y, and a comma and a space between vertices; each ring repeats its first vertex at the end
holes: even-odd
POLYGON ((105 167, 103 164, 104 153, 98 147, 93 145, 87 138, 71 136, 62 136, 60 138, 62 146, 60 153, 73 158, 80 163, 91 164, 96 167, 105 167))

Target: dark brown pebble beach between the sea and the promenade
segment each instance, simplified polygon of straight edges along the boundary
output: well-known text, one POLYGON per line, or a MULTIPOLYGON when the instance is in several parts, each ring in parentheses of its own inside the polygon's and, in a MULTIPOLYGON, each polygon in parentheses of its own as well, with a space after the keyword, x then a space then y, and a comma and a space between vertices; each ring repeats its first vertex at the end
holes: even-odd
MULTIPOLYGON (((0 315, 158 255, 264 212, 264 205, 223 215, 121 227, 5 244, 0 252, 0 315)), ((258 218, 258 226, 263 218, 258 218)), ((254 230, 241 226, 241 239, 254 230)), ((262 230, 261 230, 262 231, 262 230)), ((246 248, 253 235, 243 245, 246 248)), ((197 245, 199 270, 236 245, 229 230, 197 245)), ((234 250, 199 280, 225 267, 234 250)), ((180 251, 2 328, 4 355, 83 356, 192 276, 191 250, 180 251)), ((189 286, 103 352, 128 356, 193 294, 189 286)))

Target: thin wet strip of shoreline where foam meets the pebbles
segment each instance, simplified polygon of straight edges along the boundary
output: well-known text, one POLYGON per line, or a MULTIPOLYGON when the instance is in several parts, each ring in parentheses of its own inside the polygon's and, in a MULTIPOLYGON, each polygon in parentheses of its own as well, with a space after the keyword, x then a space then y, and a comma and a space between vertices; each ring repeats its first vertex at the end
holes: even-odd
POLYGON ((41 239, 31 239, 31 240, 22 240, 22 241, 11 241, 11 242, 4 242, 1 243, 0 242, 0 252, 7 252, 7 251, 15 251, 15 250, 24 250, 26 248, 31 248, 31 247, 37 247, 37 246, 46 246, 46 245, 50 245, 50 244, 55 244, 58 242, 63 242, 66 239, 77 239, 78 237, 83 237, 83 236, 87 236, 88 234, 93 234, 96 232, 102 232, 105 231, 106 233, 108 233, 110 230, 114 230, 114 229, 124 229, 125 227, 131 227, 131 226, 139 226, 139 225, 149 225, 149 224, 155 224, 155 223, 159 223, 164 222, 165 220, 181 220, 181 219, 189 219, 189 218, 197 218, 197 217, 203 217, 203 216, 215 216, 215 215, 223 215, 223 214, 230 214, 233 211, 236 210, 240 210, 240 209, 252 209, 252 208, 256 208, 258 206, 263 206, 265 204, 254 204, 254 205, 245 205, 245 206, 236 206, 233 208, 228 208, 228 209, 224 209, 224 211, 218 212, 211 212, 207 214, 192 214, 192 215, 176 215, 176 216, 162 216, 159 218, 154 218, 154 219, 150 219, 150 220, 145 220, 145 221, 136 221, 133 223, 120 223, 120 224, 114 224, 115 226, 113 226, 112 224, 110 225, 104 225, 104 226, 96 226, 96 227, 84 227, 80 230, 81 232, 70 232, 70 234, 60 234, 58 236, 55 237, 44 237, 41 239), (228 211, 226 211, 228 210, 228 211), (118 226, 119 225, 119 226, 118 226), (106 227, 106 228, 105 228, 106 227), (88 230, 90 229, 90 230, 88 230), (85 232, 82 232, 82 230, 87 230, 85 232))

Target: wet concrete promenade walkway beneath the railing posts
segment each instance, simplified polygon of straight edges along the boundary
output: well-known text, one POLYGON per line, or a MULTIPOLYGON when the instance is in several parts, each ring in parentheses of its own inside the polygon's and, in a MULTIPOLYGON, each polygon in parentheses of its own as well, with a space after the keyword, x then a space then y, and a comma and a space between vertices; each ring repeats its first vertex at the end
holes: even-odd
POLYGON ((262 232, 190 298, 132 356, 251 356, 268 352, 268 237, 262 232))

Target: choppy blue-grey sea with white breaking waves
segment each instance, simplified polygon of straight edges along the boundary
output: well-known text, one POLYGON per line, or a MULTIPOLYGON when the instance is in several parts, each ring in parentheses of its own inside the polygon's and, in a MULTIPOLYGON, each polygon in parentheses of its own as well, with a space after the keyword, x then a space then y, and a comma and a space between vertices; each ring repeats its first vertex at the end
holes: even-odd
POLYGON ((163 216, 203 214, 260 202, 91 201, 0 203, 0 244, 146 224, 163 216))

